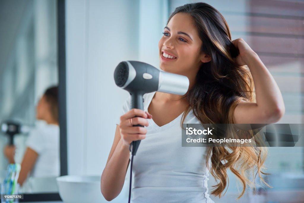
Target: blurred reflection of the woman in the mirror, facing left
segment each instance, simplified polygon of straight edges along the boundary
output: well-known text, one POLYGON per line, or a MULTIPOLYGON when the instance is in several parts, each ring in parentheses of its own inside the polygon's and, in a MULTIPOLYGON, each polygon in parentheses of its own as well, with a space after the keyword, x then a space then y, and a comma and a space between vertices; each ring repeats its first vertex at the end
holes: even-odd
MULTIPOLYGON (((53 177, 60 175, 58 87, 50 87, 40 98, 36 118, 47 124, 29 133, 22 159, 18 183, 23 185, 27 176, 53 177)), ((15 146, 5 147, 5 156, 15 163, 15 146)))

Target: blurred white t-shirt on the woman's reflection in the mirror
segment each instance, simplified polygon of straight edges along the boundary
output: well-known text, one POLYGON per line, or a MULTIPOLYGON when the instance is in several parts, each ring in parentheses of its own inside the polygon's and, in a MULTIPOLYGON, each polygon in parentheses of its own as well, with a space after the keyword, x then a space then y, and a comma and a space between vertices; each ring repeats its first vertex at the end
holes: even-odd
POLYGON ((59 126, 45 124, 29 133, 26 146, 38 153, 32 177, 60 176, 59 126))

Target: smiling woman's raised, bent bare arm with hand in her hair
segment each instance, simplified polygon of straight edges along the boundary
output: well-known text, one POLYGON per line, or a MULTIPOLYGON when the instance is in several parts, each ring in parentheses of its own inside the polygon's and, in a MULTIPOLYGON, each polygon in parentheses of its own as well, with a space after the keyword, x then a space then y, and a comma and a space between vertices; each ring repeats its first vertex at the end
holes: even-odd
POLYGON ((274 78, 258 55, 244 40, 234 40, 240 49, 240 65, 248 65, 256 93, 256 103, 241 102, 233 114, 235 123, 275 123, 285 113, 282 94, 274 78), (243 54, 241 54, 243 50, 243 54), (247 51, 244 51, 247 50, 247 51))

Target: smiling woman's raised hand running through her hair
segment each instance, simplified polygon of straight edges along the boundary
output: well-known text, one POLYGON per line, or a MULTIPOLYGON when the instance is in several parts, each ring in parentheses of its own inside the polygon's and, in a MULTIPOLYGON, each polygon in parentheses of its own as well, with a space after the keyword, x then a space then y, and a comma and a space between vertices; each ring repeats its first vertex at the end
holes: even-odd
POLYGON ((252 55, 256 55, 256 53, 242 38, 233 40, 232 43, 235 47, 239 49, 240 52, 240 54, 236 58, 233 58, 237 62, 237 64, 247 65, 247 59, 252 55))

